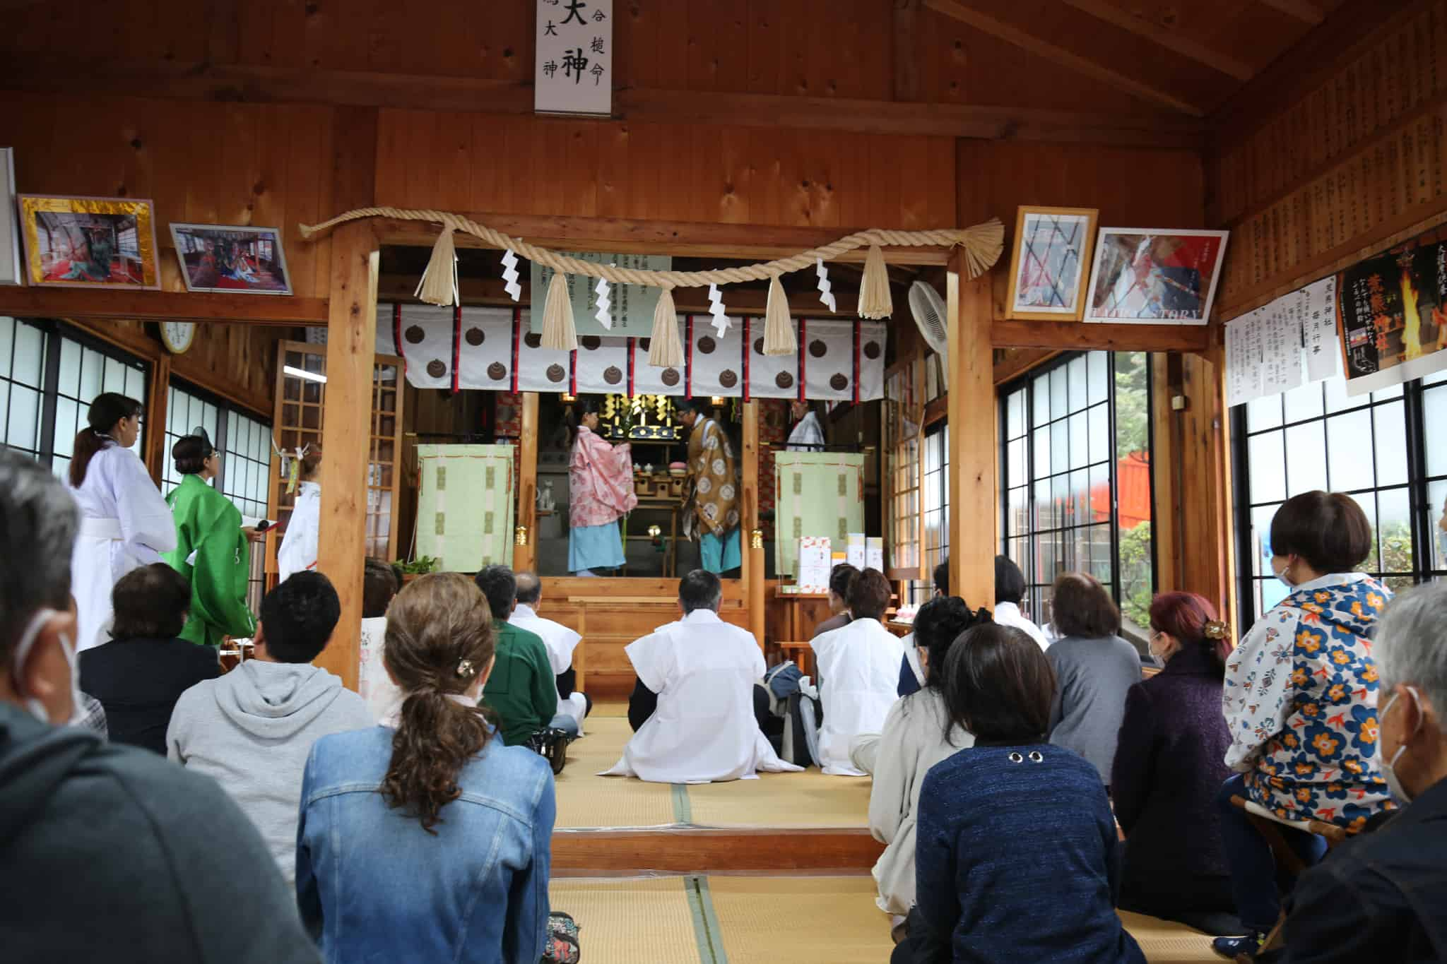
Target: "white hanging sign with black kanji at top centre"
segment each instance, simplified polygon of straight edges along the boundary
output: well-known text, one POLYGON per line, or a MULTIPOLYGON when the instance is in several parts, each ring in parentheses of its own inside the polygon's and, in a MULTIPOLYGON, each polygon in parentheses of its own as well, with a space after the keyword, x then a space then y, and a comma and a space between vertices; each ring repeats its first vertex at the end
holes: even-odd
POLYGON ((614 0, 537 0, 532 110, 612 114, 614 0))

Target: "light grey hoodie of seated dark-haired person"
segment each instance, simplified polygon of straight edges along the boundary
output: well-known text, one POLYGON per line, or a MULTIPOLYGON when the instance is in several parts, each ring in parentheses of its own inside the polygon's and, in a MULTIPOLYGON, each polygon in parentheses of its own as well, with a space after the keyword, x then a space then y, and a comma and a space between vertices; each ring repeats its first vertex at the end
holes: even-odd
POLYGON ((166 756, 216 779, 295 883, 301 775, 311 744, 373 724, 366 701, 310 663, 252 659, 177 701, 166 756))

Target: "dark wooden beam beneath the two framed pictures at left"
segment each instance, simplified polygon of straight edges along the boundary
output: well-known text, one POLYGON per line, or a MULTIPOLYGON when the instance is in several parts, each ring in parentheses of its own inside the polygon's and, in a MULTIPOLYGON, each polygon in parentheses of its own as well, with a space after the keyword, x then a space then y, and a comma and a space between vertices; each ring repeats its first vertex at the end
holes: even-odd
POLYGON ((12 288, 0 285, 0 315, 17 318, 133 318, 247 325, 324 325, 326 298, 127 291, 122 288, 12 288))

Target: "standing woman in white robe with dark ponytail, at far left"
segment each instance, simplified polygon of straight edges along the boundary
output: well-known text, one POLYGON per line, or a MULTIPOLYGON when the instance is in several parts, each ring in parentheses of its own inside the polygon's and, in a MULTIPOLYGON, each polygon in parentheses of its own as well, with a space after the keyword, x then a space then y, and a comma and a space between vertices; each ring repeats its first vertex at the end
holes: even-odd
POLYGON ((71 494, 81 515, 71 554, 77 652, 110 640, 110 593, 120 577, 162 562, 161 554, 177 548, 171 507, 130 451, 140 436, 140 415, 136 399, 97 395, 71 448, 71 494))

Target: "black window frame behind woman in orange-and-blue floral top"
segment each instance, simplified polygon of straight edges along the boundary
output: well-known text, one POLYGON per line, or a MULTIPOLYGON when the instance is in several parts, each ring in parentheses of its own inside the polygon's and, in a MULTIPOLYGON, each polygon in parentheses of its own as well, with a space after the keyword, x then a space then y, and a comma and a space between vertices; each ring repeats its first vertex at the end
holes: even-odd
MULTIPOLYGON (((1340 377, 1340 374, 1333 376, 1340 377)), ((1431 377, 1431 376, 1428 376, 1431 377)), ((1327 380, 1318 380, 1308 384, 1314 384, 1321 390, 1325 390, 1327 380)), ((1424 379, 1411 379, 1401 383, 1402 395, 1401 397, 1385 397, 1375 399, 1366 396, 1362 403, 1354 403, 1350 408, 1338 409, 1336 412, 1325 410, 1323 405, 1321 415, 1312 415, 1304 419, 1295 419, 1288 422, 1285 416, 1285 409, 1282 410, 1282 419, 1279 425, 1272 425, 1263 429, 1252 431, 1249 423, 1249 403, 1242 403, 1230 409, 1230 429, 1231 429, 1231 523, 1234 526, 1234 552, 1236 552, 1236 613, 1237 621, 1240 623, 1239 632, 1246 633, 1256 620, 1259 619, 1256 613, 1256 585, 1259 582, 1268 582, 1270 577, 1257 577, 1255 561, 1255 546, 1252 542, 1252 512, 1265 506, 1281 504, 1275 500, 1253 503, 1250 497, 1250 439, 1256 435, 1263 435, 1266 432, 1281 431, 1285 432, 1288 428, 1299 425, 1311 425, 1314 422, 1325 423, 1334 415, 1343 415, 1346 412, 1369 412, 1372 425, 1372 480, 1373 484, 1366 489, 1331 489, 1330 491, 1343 491, 1353 497, 1370 494, 1373 499, 1373 513, 1372 513, 1372 530, 1376 539, 1373 552, 1378 556, 1378 569, 1370 572, 1372 578, 1404 578, 1411 577, 1414 585, 1421 585, 1422 582, 1431 581, 1434 578, 1447 578, 1447 567, 1433 568, 1433 554, 1431 554, 1431 539, 1433 533, 1430 530, 1430 513, 1431 500, 1430 489, 1433 483, 1447 480, 1447 475, 1427 477, 1427 431, 1425 431, 1425 409, 1424 409, 1424 393, 1428 390, 1447 393, 1447 382, 1438 382, 1435 384, 1425 384, 1424 379), (1402 403, 1402 419, 1404 425, 1404 445, 1406 449, 1406 481, 1380 484, 1380 473, 1378 470, 1378 421, 1375 418, 1375 410, 1382 406, 1393 405, 1396 402, 1402 403), (1382 491, 1405 491, 1408 504, 1408 530, 1412 535, 1412 569, 1411 572, 1385 572, 1382 565, 1385 564, 1382 552, 1382 533, 1380 520, 1378 517, 1378 494, 1382 491)), ((1391 390, 1392 386, 1382 389, 1383 392, 1391 390)), ((1285 392, 1275 396, 1281 399, 1285 392)), ((1376 393, 1372 393, 1376 395, 1376 393)), ((1356 396, 1362 397, 1362 396, 1356 396)), ((1327 484, 1331 484, 1331 460, 1330 460, 1330 435, 1325 434, 1325 425, 1323 428, 1323 438, 1328 445, 1328 454, 1325 457, 1327 467, 1327 484)), ((1282 441, 1285 449, 1285 438, 1282 441)), ((1282 462, 1288 478, 1289 465, 1282 462)), ((1283 491, 1286 499, 1291 497, 1289 483, 1283 483, 1283 491)), ((1447 561, 1444 561, 1447 562, 1447 561)))

